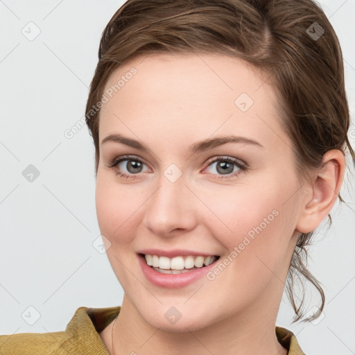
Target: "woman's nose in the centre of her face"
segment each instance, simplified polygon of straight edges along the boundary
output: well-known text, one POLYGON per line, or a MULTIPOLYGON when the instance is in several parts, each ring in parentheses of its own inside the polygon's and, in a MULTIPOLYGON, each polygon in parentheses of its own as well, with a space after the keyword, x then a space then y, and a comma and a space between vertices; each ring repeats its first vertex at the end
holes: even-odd
POLYGON ((144 225, 159 236, 173 236, 177 231, 188 232, 196 226, 196 196, 183 178, 171 182, 164 176, 161 184, 146 202, 144 225))

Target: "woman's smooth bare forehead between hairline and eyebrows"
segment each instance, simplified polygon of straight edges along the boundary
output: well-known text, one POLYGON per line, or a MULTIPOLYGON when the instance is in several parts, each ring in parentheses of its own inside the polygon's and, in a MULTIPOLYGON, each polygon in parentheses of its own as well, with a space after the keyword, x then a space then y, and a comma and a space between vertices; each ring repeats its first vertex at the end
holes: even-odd
POLYGON ((270 135, 266 125, 280 130, 267 74, 225 55, 140 55, 112 73, 104 94, 100 140, 122 130, 157 132, 158 126, 196 139, 216 131, 256 135, 261 128, 270 135))

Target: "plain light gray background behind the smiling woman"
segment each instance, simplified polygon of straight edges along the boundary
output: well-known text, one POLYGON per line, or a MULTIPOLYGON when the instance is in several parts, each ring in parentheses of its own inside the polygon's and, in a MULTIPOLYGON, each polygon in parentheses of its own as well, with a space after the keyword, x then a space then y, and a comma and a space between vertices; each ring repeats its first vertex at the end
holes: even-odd
MULTIPOLYGON (((0 1, 0 334, 62 331, 79 306, 121 305, 123 290, 97 250, 94 145, 86 125, 71 139, 64 132, 85 114, 101 33, 122 3, 0 1), (33 40, 21 32, 35 35, 36 28, 33 40), (40 171, 33 182, 22 175, 30 164, 40 171)), ((354 121, 355 0, 320 3, 343 46, 354 121)), ((353 125, 355 147, 354 137, 353 125)), ((336 204, 334 225, 310 252, 310 268, 327 297, 324 318, 291 324, 293 310, 284 297, 277 320, 307 354, 355 354, 350 179, 342 189, 347 206, 336 204)), ((309 309, 316 302, 309 300, 309 309)))

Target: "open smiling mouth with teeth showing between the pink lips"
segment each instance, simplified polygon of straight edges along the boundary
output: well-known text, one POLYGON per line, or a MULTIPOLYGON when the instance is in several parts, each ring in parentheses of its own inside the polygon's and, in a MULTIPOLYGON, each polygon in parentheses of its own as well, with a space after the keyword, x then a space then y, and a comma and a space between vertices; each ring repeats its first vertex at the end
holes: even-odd
POLYGON ((182 274, 191 270, 205 268, 220 259, 219 255, 210 255, 209 257, 188 255, 168 258, 159 257, 156 254, 141 253, 139 253, 139 257, 143 258, 150 268, 164 274, 182 274))

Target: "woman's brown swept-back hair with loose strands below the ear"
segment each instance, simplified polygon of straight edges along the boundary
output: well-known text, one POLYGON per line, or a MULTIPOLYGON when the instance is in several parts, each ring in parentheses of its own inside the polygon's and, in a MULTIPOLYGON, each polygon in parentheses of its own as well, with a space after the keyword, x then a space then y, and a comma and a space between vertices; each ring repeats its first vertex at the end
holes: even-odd
MULTIPOLYGON (((355 162, 347 138, 350 120, 342 51, 329 20, 312 0, 128 0, 103 31, 87 99, 96 175, 100 114, 96 106, 100 107, 112 72, 144 53, 220 53, 268 73, 279 96, 284 129, 293 141, 301 182, 309 169, 320 166, 328 150, 345 154, 348 148, 355 162)), ((340 194, 338 198, 343 202, 340 194)), ((304 321, 318 318, 324 307, 322 287, 306 269, 306 246, 313 232, 298 239, 288 270, 286 291, 295 310, 293 322, 304 317, 302 276, 322 299, 318 311, 304 321), (293 293, 295 282, 302 286, 299 302, 293 293)))

